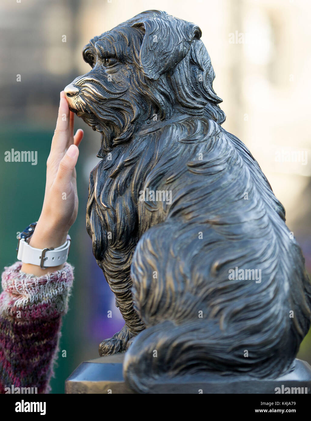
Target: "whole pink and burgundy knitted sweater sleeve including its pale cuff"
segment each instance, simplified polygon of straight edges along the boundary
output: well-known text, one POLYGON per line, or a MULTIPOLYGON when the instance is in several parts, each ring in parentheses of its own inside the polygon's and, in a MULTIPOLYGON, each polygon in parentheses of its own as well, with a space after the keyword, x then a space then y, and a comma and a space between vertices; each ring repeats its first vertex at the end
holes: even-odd
POLYGON ((0 393, 10 393, 6 388, 16 387, 47 393, 73 268, 66 263, 62 270, 40 277, 20 269, 21 262, 17 262, 2 274, 0 393))

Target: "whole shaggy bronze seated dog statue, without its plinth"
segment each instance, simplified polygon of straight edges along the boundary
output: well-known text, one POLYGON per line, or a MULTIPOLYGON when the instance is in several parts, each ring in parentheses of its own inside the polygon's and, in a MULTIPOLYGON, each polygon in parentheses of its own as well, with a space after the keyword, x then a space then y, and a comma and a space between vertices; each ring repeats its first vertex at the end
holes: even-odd
POLYGON ((127 350, 137 392, 208 371, 279 376, 310 326, 301 250, 259 165, 221 127, 200 37, 143 12, 91 40, 91 71, 65 90, 102 136, 87 229, 125 326, 99 351, 127 350), (232 279, 236 267, 260 282, 232 279))

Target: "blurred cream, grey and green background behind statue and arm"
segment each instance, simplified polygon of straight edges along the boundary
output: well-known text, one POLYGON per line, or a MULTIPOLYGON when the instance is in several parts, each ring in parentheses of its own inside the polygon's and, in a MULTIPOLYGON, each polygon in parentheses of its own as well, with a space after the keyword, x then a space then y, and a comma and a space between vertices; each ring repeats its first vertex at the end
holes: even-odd
MULTIPOLYGON (((286 4, 281 0, 191 4, 185 0, 4 0, 0 6, 0 267, 16 261, 17 233, 40 216, 59 92, 88 71, 81 56, 83 46, 94 35, 148 9, 165 10, 201 27, 217 76, 214 89, 224 99, 224 127, 244 141, 259 162, 285 206, 287 224, 311 272, 310 165, 276 160, 276 152, 286 148, 310 152, 306 51, 311 43, 311 8, 308 1, 298 0, 286 4), (231 42, 236 31, 245 36, 244 42, 231 42), (5 162, 5 151, 11 148, 38 151, 38 164, 5 162)), ((83 360, 98 357, 98 344, 123 325, 86 233, 88 176, 98 162, 100 136, 76 119, 75 128, 79 127, 85 136, 77 165, 79 213, 70 231, 69 257, 75 266, 75 283, 63 319, 52 393, 64 393, 70 373, 83 360), (108 310, 113 312, 111 319, 108 310), (67 357, 62 357, 62 350, 67 357)), ((311 363, 310 332, 298 357, 311 363)))

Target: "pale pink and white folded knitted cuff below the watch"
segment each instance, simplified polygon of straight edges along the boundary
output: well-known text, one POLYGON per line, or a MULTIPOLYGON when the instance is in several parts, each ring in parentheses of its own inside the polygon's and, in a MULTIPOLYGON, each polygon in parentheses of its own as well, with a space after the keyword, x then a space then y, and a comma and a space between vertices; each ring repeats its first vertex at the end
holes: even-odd
POLYGON ((67 312, 73 281, 69 263, 61 270, 39 277, 21 272, 21 262, 4 269, 0 314, 33 320, 59 317, 67 312))

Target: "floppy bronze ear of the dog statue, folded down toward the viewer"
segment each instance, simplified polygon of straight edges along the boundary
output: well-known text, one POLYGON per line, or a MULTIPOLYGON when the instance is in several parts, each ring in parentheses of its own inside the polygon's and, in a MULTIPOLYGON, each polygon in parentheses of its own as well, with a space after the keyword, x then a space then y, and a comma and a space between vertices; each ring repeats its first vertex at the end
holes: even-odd
POLYGON ((166 13, 146 17, 132 27, 145 32, 139 52, 142 71, 152 80, 173 69, 190 50, 194 38, 201 38, 201 29, 190 22, 166 13))

